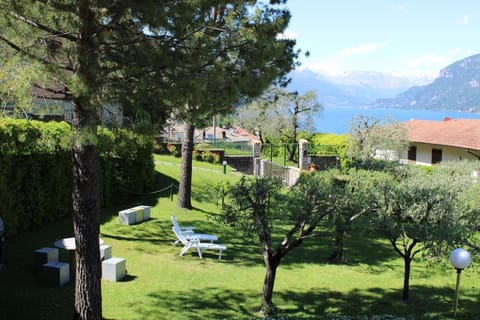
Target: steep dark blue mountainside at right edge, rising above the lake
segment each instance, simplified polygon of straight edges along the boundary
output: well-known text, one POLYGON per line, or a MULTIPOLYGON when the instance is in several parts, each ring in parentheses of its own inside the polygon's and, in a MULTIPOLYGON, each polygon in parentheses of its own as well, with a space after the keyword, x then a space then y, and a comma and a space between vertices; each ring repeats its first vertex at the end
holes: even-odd
POLYGON ((440 71, 430 84, 414 86, 390 99, 377 99, 371 107, 480 112, 480 54, 440 71))

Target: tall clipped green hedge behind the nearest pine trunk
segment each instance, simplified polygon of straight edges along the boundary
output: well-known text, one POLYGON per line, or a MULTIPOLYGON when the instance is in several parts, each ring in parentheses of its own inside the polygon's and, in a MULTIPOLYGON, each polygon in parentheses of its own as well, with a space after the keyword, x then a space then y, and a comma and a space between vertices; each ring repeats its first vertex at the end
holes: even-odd
MULTIPOLYGON (((0 118, 0 216, 8 235, 72 212, 71 130, 66 122, 0 118)), ((151 188, 153 140, 99 128, 100 205, 151 188)))

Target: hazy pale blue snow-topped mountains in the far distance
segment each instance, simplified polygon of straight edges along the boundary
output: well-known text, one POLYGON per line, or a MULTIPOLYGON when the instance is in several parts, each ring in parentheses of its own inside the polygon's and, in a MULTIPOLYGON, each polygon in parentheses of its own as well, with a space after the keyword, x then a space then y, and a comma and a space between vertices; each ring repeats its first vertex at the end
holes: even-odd
POLYGON ((300 93, 313 90, 326 107, 367 106, 380 98, 393 98, 414 85, 432 78, 400 77, 373 71, 354 71, 329 75, 303 69, 291 73, 289 89, 300 93))

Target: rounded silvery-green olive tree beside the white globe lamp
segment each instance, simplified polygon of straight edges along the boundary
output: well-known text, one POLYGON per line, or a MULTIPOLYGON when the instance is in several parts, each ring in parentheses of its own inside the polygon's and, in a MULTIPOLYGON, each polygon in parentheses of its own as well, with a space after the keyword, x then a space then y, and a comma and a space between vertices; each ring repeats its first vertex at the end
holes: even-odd
POLYGON ((404 260, 403 300, 409 298, 411 262, 420 252, 442 243, 460 242, 474 231, 461 193, 472 183, 446 171, 416 166, 398 169, 395 176, 378 176, 372 192, 376 211, 372 224, 404 260), (460 181, 464 183, 459 189, 460 181))

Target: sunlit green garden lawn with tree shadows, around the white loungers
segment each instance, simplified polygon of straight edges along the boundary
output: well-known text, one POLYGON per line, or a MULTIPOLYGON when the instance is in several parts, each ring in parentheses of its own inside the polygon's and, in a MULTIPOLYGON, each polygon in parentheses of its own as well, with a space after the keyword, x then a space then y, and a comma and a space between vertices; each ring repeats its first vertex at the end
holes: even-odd
MULTIPOLYGON (((156 156, 161 177, 158 189, 178 180, 179 159, 156 156)), ((257 316, 264 267, 255 239, 222 228, 207 219, 218 212, 215 186, 238 179, 230 168, 194 162, 194 210, 176 208, 169 191, 145 195, 136 204, 152 206, 152 219, 132 226, 120 225, 117 212, 104 210, 101 237, 115 257, 127 261, 121 282, 102 281, 103 315, 110 320, 129 319, 246 319, 257 316), (200 260, 194 253, 179 257, 173 246, 170 215, 182 225, 195 225, 202 233, 215 233, 228 250, 219 261, 214 253, 200 260)), ((72 235, 71 219, 7 239, 5 268, 0 272, 0 319, 70 319, 73 285, 40 285, 32 268, 33 251, 52 246, 72 235)), ((411 299, 401 300, 403 264, 382 239, 349 235, 349 265, 325 262, 332 238, 321 230, 280 266, 274 301, 286 319, 449 319, 453 311, 455 271, 446 261, 425 263, 416 258, 411 277, 411 299), (345 317, 342 315, 351 315, 345 317), (370 315, 359 317, 360 315, 370 315), (374 317, 373 315, 392 315, 374 317)), ((68 255, 61 252, 61 260, 68 255)), ((480 319, 478 268, 462 273, 459 319, 480 319)))

